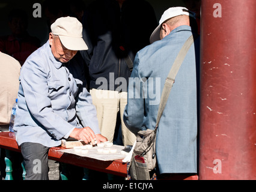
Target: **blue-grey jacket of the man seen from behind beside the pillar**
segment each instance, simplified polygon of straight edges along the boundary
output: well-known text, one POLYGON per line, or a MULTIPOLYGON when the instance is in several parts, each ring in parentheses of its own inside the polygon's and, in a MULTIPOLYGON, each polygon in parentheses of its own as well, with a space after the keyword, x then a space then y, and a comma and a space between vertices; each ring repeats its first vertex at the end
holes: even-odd
MULTIPOLYGON (((165 79, 191 34, 190 26, 179 26, 137 53, 124 110, 124 122, 133 133, 155 128, 165 79)), ((184 59, 160 119, 156 138, 160 173, 197 173, 199 41, 184 59)))

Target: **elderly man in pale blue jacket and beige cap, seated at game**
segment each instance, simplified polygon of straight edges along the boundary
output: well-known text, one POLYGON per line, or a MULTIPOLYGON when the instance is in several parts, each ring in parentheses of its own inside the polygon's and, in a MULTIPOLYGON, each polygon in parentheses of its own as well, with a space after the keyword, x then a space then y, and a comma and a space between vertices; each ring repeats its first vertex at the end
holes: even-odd
POLYGON ((32 53, 20 71, 14 133, 25 160, 25 179, 48 179, 47 152, 73 137, 105 142, 100 134, 78 50, 88 49, 82 24, 61 17, 51 25, 49 41, 32 53), (35 161, 37 160, 37 161, 35 161), (34 172, 34 162, 40 171, 34 172))

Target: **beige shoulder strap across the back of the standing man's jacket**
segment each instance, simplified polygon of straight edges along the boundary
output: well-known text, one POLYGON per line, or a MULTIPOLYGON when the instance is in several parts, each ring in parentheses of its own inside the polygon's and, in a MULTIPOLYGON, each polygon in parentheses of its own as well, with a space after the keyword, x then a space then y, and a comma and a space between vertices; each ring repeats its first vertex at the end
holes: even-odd
POLYGON ((171 92, 172 85, 175 82, 175 76, 177 75, 178 70, 180 69, 180 66, 193 42, 194 38, 193 35, 191 35, 183 44, 183 47, 178 53, 177 58, 175 59, 174 64, 172 65, 171 70, 169 71, 168 77, 165 80, 165 85, 163 86, 162 96, 159 104, 159 110, 157 113, 156 129, 159 125, 159 121, 163 114, 163 110, 165 109, 165 105, 168 100, 169 93, 171 92))

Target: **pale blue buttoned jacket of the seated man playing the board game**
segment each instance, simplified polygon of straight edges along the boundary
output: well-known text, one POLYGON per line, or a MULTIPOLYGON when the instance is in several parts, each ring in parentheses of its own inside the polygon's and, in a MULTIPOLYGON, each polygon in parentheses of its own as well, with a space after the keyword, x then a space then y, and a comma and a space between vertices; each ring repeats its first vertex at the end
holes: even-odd
POLYGON ((49 41, 26 59, 20 71, 14 133, 18 145, 61 144, 74 127, 100 133, 96 108, 86 89, 79 53, 66 64, 54 58, 49 41))

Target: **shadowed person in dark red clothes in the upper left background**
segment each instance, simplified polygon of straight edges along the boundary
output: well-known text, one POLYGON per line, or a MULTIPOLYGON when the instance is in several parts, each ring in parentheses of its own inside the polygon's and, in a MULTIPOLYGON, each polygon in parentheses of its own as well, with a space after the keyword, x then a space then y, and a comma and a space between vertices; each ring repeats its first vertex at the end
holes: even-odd
POLYGON ((8 16, 8 25, 11 35, 0 38, 0 51, 17 59, 20 65, 23 65, 26 58, 40 47, 40 40, 26 31, 28 16, 23 10, 12 10, 8 16))

